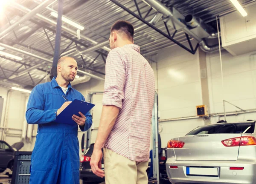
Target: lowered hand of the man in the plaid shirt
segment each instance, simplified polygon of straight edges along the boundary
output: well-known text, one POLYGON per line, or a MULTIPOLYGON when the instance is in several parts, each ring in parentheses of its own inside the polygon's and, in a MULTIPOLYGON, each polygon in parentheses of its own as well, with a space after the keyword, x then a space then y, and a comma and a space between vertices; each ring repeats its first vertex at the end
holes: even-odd
POLYGON ((105 176, 104 171, 101 170, 101 161, 102 161, 102 150, 93 150, 93 154, 91 156, 90 166, 92 171, 97 176, 103 178, 105 176))

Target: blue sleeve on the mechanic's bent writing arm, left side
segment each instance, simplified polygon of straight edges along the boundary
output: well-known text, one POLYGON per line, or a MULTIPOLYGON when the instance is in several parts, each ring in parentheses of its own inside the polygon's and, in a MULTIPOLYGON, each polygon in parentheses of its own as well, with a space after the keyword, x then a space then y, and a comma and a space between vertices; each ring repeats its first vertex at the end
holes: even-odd
POLYGON ((55 120, 58 109, 44 110, 43 87, 37 85, 29 95, 26 110, 28 124, 47 124, 55 120))

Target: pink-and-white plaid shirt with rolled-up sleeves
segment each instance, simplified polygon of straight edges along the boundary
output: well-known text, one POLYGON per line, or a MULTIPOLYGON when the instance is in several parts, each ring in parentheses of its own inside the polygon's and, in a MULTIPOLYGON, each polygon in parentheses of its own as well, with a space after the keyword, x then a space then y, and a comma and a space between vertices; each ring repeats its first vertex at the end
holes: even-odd
POLYGON ((109 52, 103 105, 120 111, 105 147, 132 161, 148 161, 154 91, 154 71, 139 46, 109 52))

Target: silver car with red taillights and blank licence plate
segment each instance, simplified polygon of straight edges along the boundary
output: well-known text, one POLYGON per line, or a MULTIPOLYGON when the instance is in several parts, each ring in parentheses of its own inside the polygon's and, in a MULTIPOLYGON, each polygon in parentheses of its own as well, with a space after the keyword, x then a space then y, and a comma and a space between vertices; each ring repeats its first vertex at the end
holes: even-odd
POLYGON ((255 121, 199 126, 168 142, 172 184, 256 184, 255 121))

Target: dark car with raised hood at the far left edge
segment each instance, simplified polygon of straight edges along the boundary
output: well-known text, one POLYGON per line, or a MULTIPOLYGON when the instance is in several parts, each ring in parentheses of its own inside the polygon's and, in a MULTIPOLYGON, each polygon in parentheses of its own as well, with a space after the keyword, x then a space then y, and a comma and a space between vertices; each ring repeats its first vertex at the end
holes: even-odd
MULTIPOLYGON (((15 151, 20 150, 24 146, 23 142, 18 142, 10 146, 6 141, 0 141, 0 173, 6 169, 13 171, 14 154, 15 151)), ((12 177, 12 173, 4 173, 12 177)))

